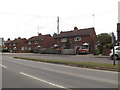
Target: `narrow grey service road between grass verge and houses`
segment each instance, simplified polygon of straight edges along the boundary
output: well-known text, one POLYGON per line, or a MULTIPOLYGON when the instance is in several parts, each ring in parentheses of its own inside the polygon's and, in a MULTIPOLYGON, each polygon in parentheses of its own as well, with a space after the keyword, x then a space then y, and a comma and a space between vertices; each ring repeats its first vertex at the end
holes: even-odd
MULTIPOLYGON (((110 63, 109 56, 94 56, 94 55, 55 55, 55 54, 32 54, 32 53, 6 53, 8 56, 22 56, 28 58, 41 58, 41 59, 52 59, 52 60, 66 60, 66 61, 77 61, 77 62, 96 62, 96 63, 110 63)), ((118 61, 116 60, 116 64, 118 61)))

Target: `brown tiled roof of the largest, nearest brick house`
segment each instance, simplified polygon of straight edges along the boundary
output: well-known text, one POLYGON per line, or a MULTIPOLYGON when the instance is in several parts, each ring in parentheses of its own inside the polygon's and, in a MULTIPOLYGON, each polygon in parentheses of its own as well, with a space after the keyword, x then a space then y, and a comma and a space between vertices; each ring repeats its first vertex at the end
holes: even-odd
POLYGON ((89 35, 91 35, 91 32, 93 32, 93 31, 94 31, 94 28, 66 31, 66 32, 61 32, 59 35, 55 36, 54 38, 89 36, 89 35))

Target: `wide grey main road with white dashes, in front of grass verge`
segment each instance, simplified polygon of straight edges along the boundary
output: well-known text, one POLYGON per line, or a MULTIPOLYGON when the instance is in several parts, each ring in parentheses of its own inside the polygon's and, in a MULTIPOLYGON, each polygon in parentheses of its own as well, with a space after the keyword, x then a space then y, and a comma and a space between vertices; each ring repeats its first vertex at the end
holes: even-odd
POLYGON ((3 55, 3 88, 118 88, 118 73, 15 59, 3 55))

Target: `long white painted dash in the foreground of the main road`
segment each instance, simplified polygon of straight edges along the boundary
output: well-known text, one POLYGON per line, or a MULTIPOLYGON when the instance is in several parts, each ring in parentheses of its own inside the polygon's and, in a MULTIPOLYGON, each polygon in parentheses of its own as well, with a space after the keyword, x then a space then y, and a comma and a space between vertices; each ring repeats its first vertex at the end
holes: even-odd
POLYGON ((26 73, 24 73, 24 72, 20 72, 20 74, 25 75, 25 76, 28 76, 28 77, 30 77, 30 78, 33 78, 33 79, 35 79, 35 80, 38 80, 38 81, 41 81, 41 82, 44 82, 44 83, 47 83, 47 84, 53 85, 53 86, 56 86, 56 87, 59 87, 59 88, 66 88, 66 87, 64 87, 64 86, 57 85, 57 84, 54 84, 54 83, 51 83, 51 82, 45 81, 45 80, 43 80, 43 79, 40 79, 40 78, 34 77, 34 76, 29 75, 29 74, 26 74, 26 73))

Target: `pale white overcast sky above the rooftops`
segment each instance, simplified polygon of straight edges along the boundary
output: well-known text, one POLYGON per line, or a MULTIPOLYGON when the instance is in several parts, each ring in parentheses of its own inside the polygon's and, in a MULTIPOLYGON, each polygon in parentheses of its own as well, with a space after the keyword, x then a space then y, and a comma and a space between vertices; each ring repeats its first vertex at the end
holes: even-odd
POLYGON ((0 0, 0 37, 29 38, 37 33, 95 27, 96 33, 116 34, 120 0, 0 0))

